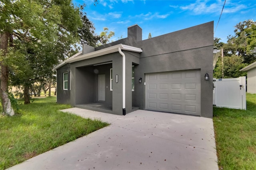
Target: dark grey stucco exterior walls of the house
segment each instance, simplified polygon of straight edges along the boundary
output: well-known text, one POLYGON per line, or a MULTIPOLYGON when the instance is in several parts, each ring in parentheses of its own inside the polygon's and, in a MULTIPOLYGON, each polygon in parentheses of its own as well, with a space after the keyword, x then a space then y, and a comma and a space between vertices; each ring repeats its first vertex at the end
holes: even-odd
MULTIPOLYGON (((95 50, 104 49, 117 44, 131 45, 141 48, 142 53, 123 51, 126 55, 126 113, 132 106, 145 109, 145 74, 166 71, 200 70, 201 73, 201 116, 212 118, 212 53, 213 53, 213 22, 208 22, 177 32, 142 40, 142 29, 136 25, 128 28, 128 38, 108 43, 95 50), (132 86, 132 65, 134 66, 135 91, 132 86), (208 73, 210 80, 205 81, 204 75, 208 73), (142 77, 142 83, 139 78, 142 77)), ((91 49, 88 49, 91 50, 91 49)), ((86 50, 84 50, 86 51, 86 50)), ((59 68, 61 70, 68 68, 59 68)), ((113 104, 113 114, 122 115, 122 55, 119 52, 102 55, 70 64, 71 91, 58 91, 58 102, 68 102, 77 105, 82 102, 97 101, 97 75, 106 75, 106 103, 113 104), (112 62, 112 64, 98 65, 112 62), (113 68, 113 91, 110 86, 110 66, 113 68), (95 69, 98 73, 93 72, 95 69), (118 75, 118 83, 115 76, 118 75), (90 84, 90 82, 93 82, 90 84), (90 85, 89 85, 90 84, 90 85), (89 89, 89 92, 82 91, 89 89), (58 94, 59 93, 59 94, 58 94), (67 99, 60 99, 64 97, 67 99), (87 97, 84 97, 87 95, 87 97), (68 99, 69 98, 69 99, 68 99), (111 100, 112 99, 112 100, 111 100)), ((58 75, 58 82, 62 77, 58 75)))

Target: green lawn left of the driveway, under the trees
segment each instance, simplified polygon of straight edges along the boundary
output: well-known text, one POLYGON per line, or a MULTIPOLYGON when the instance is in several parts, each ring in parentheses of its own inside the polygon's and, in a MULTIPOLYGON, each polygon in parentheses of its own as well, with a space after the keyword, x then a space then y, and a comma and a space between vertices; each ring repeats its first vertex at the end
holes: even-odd
POLYGON ((58 111, 70 105, 57 104, 56 97, 18 107, 19 114, 0 117, 1 170, 109 125, 58 111))

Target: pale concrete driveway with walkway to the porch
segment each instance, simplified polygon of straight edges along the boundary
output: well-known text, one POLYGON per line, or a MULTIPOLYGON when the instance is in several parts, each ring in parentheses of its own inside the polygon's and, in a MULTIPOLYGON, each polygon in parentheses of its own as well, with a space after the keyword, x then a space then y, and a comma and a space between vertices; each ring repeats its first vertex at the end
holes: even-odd
POLYGON ((217 170, 212 119, 138 110, 126 116, 71 108, 110 126, 10 170, 217 170))

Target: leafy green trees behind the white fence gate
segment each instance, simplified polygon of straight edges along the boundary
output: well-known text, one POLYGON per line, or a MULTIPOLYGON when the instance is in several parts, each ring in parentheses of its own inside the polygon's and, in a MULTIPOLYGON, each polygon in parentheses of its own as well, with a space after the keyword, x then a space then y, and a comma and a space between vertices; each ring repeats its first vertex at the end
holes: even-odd
POLYGON ((223 48, 223 65, 219 58, 214 69, 216 78, 235 78, 245 76, 246 72, 239 71, 256 61, 256 22, 245 20, 236 24, 234 36, 229 35, 227 43, 214 38, 214 49, 223 48), (222 77, 222 70, 224 77, 222 77))

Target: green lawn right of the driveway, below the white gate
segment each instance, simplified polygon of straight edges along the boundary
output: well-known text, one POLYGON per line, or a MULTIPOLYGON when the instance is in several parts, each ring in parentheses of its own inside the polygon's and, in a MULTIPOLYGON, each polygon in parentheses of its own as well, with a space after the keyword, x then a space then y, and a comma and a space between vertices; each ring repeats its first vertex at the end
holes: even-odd
POLYGON ((220 169, 256 169, 256 94, 246 93, 246 107, 247 110, 214 108, 220 169))

